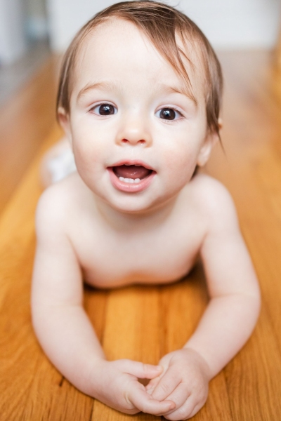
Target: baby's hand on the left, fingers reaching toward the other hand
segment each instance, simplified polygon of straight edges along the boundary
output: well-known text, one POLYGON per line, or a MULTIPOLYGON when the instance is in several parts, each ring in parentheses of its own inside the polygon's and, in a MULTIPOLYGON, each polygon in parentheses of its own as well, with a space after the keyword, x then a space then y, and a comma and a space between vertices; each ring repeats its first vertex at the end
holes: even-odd
POLYGON ((91 373, 92 396, 123 413, 162 415, 175 408, 174 402, 158 401, 138 382, 138 378, 152 379, 159 373, 162 367, 129 359, 98 360, 91 373))

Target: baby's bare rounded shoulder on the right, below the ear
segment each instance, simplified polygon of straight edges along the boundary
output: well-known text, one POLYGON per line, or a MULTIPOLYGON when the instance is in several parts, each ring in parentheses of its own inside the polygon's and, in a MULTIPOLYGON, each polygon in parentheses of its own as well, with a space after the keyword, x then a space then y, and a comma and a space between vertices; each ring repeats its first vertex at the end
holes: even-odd
POLYGON ((193 196, 213 229, 238 228, 235 203, 228 189, 209 175, 199 174, 192 180, 193 196))

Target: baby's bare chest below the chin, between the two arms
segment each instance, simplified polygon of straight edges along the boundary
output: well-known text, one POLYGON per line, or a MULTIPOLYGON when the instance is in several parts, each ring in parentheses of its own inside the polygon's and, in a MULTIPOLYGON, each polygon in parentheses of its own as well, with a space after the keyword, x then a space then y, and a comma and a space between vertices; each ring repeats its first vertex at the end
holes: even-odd
MULTIPOLYGON (((190 196, 177 203, 163 223, 114 229, 100 223, 96 211, 72 217, 68 235, 84 281, 99 288, 133 283, 169 283, 181 279, 197 260, 204 223, 190 196)), ((83 198, 79 206, 87 209, 83 198)))

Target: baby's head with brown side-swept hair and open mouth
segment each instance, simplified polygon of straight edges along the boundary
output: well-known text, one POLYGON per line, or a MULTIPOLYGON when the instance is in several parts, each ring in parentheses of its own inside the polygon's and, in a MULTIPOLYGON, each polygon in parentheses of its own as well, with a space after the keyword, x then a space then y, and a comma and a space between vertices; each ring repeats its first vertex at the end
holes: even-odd
POLYGON ((148 210, 181 192, 209 159, 221 91, 216 55, 190 19, 155 1, 126 1, 72 41, 58 119, 96 196, 119 210, 148 210))

